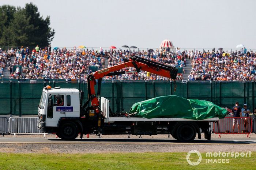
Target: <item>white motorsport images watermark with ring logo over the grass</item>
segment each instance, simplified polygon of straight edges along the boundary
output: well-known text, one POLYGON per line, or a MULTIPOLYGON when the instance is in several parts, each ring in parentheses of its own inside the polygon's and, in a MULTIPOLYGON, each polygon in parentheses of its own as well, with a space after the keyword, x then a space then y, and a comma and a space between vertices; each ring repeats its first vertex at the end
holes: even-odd
MULTIPOLYGON (((251 157, 251 151, 249 152, 207 152, 206 153, 206 163, 229 163, 229 158, 238 158, 238 157, 251 157)), ((191 150, 187 154, 187 162, 189 165, 195 166, 202 161, 202 154, 197 150, 191 150), (197 161, 192 162, 190 160, 191 154, 197 154, 197 161)))

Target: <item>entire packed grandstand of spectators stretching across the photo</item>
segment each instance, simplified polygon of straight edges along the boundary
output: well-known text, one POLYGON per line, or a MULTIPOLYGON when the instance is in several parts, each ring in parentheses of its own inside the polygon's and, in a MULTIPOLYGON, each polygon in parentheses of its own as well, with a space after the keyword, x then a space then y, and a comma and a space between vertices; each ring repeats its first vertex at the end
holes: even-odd
MULTIPOLYGON (((8 79, 86 80, 93 72, 123 63, 123 57, 142 58, 180 68, 176 80, 255 80, 256 53, 252 50, 97 50, 91 48, 19 48, 0 50, 0 76, 8 79)), ((132 71, 134 68, 125 68, 132 71)), ((167 80, 141 71, 106 77, 110 80, 167 80)))

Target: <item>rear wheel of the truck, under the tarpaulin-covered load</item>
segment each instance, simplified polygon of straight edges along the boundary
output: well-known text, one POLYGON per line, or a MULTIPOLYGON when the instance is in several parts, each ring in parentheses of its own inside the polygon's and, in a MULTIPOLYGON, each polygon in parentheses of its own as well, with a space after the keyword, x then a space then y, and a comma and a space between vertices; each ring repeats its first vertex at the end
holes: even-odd
POLYGON ((196 137, 196 129, 190 123, 181 124, 176 132, 177 139, 181 142, 191 142, 196 137))

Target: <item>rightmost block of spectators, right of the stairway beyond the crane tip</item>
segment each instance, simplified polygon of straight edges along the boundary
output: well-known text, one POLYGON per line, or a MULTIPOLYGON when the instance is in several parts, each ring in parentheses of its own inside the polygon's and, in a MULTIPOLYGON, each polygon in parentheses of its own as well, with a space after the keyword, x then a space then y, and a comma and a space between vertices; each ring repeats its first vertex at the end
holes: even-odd
POLYGON ((188 80, 255 80, 256 53, 246 48, 236 51, 189 51, 192 59, 188 80))

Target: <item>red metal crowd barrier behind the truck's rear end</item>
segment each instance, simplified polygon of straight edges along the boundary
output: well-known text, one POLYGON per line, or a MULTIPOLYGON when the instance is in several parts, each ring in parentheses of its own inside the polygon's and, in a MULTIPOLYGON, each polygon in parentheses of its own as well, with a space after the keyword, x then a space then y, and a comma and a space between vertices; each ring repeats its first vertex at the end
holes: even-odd
POLYGON ((213 126, 214 133, 219 134, 219 137, 221 134, 247 134, 249 137, 249 134, 252 133, 253 123, 251 117, 225 117, 219 119, 213 126))

